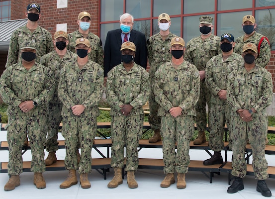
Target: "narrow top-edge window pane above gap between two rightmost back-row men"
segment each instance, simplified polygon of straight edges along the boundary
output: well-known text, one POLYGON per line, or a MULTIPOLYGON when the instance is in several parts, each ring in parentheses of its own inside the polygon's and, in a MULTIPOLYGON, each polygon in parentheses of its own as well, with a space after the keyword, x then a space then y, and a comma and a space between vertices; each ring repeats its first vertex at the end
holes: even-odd
POLYGON ((252 0, 218 0, 218 10, 252 7, 252 0))

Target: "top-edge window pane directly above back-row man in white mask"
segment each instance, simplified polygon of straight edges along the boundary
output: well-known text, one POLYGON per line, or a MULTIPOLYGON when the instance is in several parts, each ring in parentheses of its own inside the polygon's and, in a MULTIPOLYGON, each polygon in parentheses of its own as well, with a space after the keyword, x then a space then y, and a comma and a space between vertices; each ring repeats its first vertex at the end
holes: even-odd
MULTIPOLYGON (((149 1, 149 0, 148 0, 149 1)), ((153 0, 153 16, 159 16, 161 13, 169 15, 181 14, 181 0, 153 0)))

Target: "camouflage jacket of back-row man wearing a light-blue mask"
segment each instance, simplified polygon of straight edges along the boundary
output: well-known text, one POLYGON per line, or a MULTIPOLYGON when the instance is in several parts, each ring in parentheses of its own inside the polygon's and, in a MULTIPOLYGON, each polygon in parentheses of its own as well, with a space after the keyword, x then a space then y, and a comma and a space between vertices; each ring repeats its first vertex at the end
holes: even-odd
MULTIPOLYGON (((78 30, 68 34, 69 45, 67 48, 76 53, 76 41, 82 37, 83 35, 78 30)), ((88 54, 89 60, 92 60, 103 68, 103 50, 100 38, 92 32, 89 32, 87 39, 89 39, 91 43, 91 52, 88 54)))

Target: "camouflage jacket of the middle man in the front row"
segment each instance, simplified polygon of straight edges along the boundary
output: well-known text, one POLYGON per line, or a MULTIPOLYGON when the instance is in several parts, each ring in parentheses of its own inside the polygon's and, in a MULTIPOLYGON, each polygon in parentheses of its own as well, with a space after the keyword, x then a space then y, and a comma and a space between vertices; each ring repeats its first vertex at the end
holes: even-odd
POLYGON ((144 114, 142 106, 150 94, 149 73, 141 66, 134 64, 127 72, 122 64, 108 72, 106 97, 111 105, 110 115, 122 116, 120 105, 130 104, 133 109, 130 116, 144 114))

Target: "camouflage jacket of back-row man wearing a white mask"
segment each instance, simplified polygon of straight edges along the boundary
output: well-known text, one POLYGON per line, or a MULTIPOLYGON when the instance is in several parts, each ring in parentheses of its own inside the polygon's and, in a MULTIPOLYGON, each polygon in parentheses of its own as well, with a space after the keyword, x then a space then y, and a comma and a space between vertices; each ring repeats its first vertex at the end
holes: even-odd
POLYGON ((163 40, 161 34, 157 33, 147 40, 150 77, 153 77, 155 75, 160 65, 172 60, 172 54, 170 52, 170 42, 174 37, 177 37, 177 35, 169 32, 167 38, 163 40))

